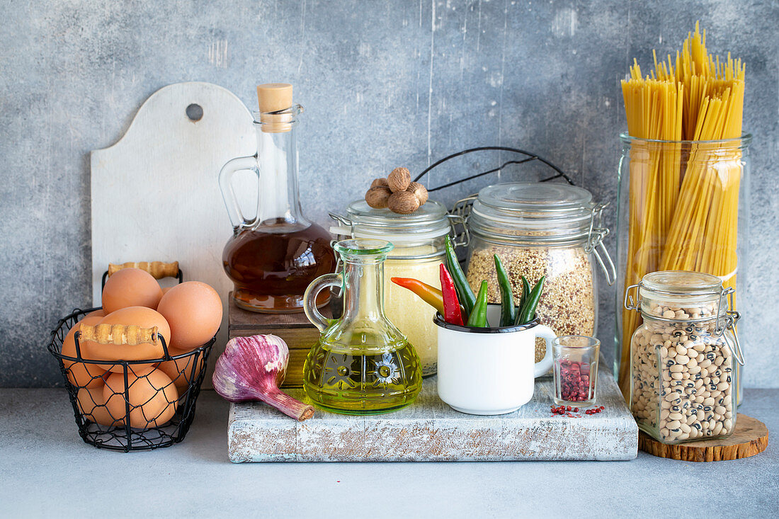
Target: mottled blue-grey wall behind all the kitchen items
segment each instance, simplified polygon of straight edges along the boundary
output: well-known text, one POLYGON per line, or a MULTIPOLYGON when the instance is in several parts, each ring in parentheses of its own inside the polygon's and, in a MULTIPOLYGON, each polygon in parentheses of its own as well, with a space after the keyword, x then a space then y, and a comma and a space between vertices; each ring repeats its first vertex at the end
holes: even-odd
MULTIPOLYGON (((648 65, 652 48, 679 48, 696 19, 712 51, 747 64, 745 127, 755 139, 746 386, 779 387, 779 5, 729 0, 5 2, 0 386, 61 384, 44 344, 60 316, 90 300, 89 152, 122 136, 160 87, 217 83, 253 108, 257 83, 294 83, 306 108, 301 196, 321 222, 361 196, 368 178, 491 144, 542 154, 615 201, 626 128, 619 79, 633 57, 648 65)), ((478 166, 498 160, 485 155, 478 166)), ((428 181, 464 175, 474 162, 428 181)), ((486 182, 436 198, 452 203, 486 182)), ((601 284, 600 296, 610 356, 614 295, 601 284)))

